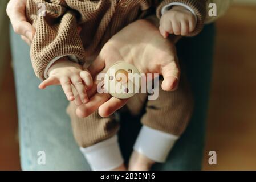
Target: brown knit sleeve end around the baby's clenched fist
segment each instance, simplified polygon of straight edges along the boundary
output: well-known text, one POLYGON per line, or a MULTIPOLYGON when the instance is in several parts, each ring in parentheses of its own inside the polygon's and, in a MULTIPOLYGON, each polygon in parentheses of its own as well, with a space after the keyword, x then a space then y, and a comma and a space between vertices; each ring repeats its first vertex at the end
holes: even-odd
POLYGON ((159 6, 156 9, 156 15, 158 18, 161 18, 161 10, 165 5, 168 5, 173 2, 184 3, 188 5, 191 9, 194 10, 197 16, 197 25, 193 32, 187 36, 196 36, 199 34, 204 27, 205 18, 206 18, 206 1, 207 0, 164 0, 160 1, 159 6))

